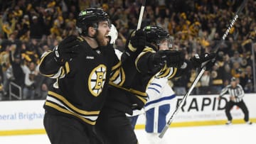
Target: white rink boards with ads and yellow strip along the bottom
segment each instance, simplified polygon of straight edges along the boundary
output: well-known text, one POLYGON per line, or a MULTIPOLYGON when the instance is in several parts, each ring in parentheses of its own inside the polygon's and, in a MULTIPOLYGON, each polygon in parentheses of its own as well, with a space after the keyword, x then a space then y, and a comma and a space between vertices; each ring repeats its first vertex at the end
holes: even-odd
MULTIPOLYGON (((186 104, 174 117, 171 126, 207 126, 223 124, 226 121, 224 107, 228 96, 220 101, 217 95, 188 96, 186 104)), ((171 113, 182 96, 172 101, 171 113)), ((250 112, 250 120, 256 122, 256 94, 246 94, 245 104, 250 112)), ((37 101, 1 101, 0 135, 23 135, 46 133, 43 129, 43 100, 37 101)), ((243 123, 243 113, 237 107, 231 114, 234 123, 243 123)), ((169 116, 167 116, 169 118, 169 116)), ((136 128, 144 128, 144 115, 139 116, 136 128)))

